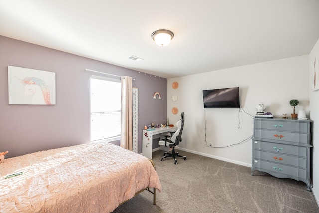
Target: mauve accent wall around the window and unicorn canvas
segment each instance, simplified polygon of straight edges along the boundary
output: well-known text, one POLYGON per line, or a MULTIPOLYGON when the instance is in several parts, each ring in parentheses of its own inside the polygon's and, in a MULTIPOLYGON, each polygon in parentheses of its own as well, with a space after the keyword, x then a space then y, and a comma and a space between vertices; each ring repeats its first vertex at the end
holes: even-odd
POLYGON ((14 157, 89 143, 90 76, 106 75, 86 72, 86 68, 135 78, 132 85, 139 88, 138 152, 141 153, 144 125, 164 123, 167 119, 167 79, 3 36, 0 36, 0 152, 8 150, 6 157, 14 157), (8 66, 55 72, 56 105, 9 105, 8 66), (155 92, 160 92, 161 99, 153 99, 155 92))

